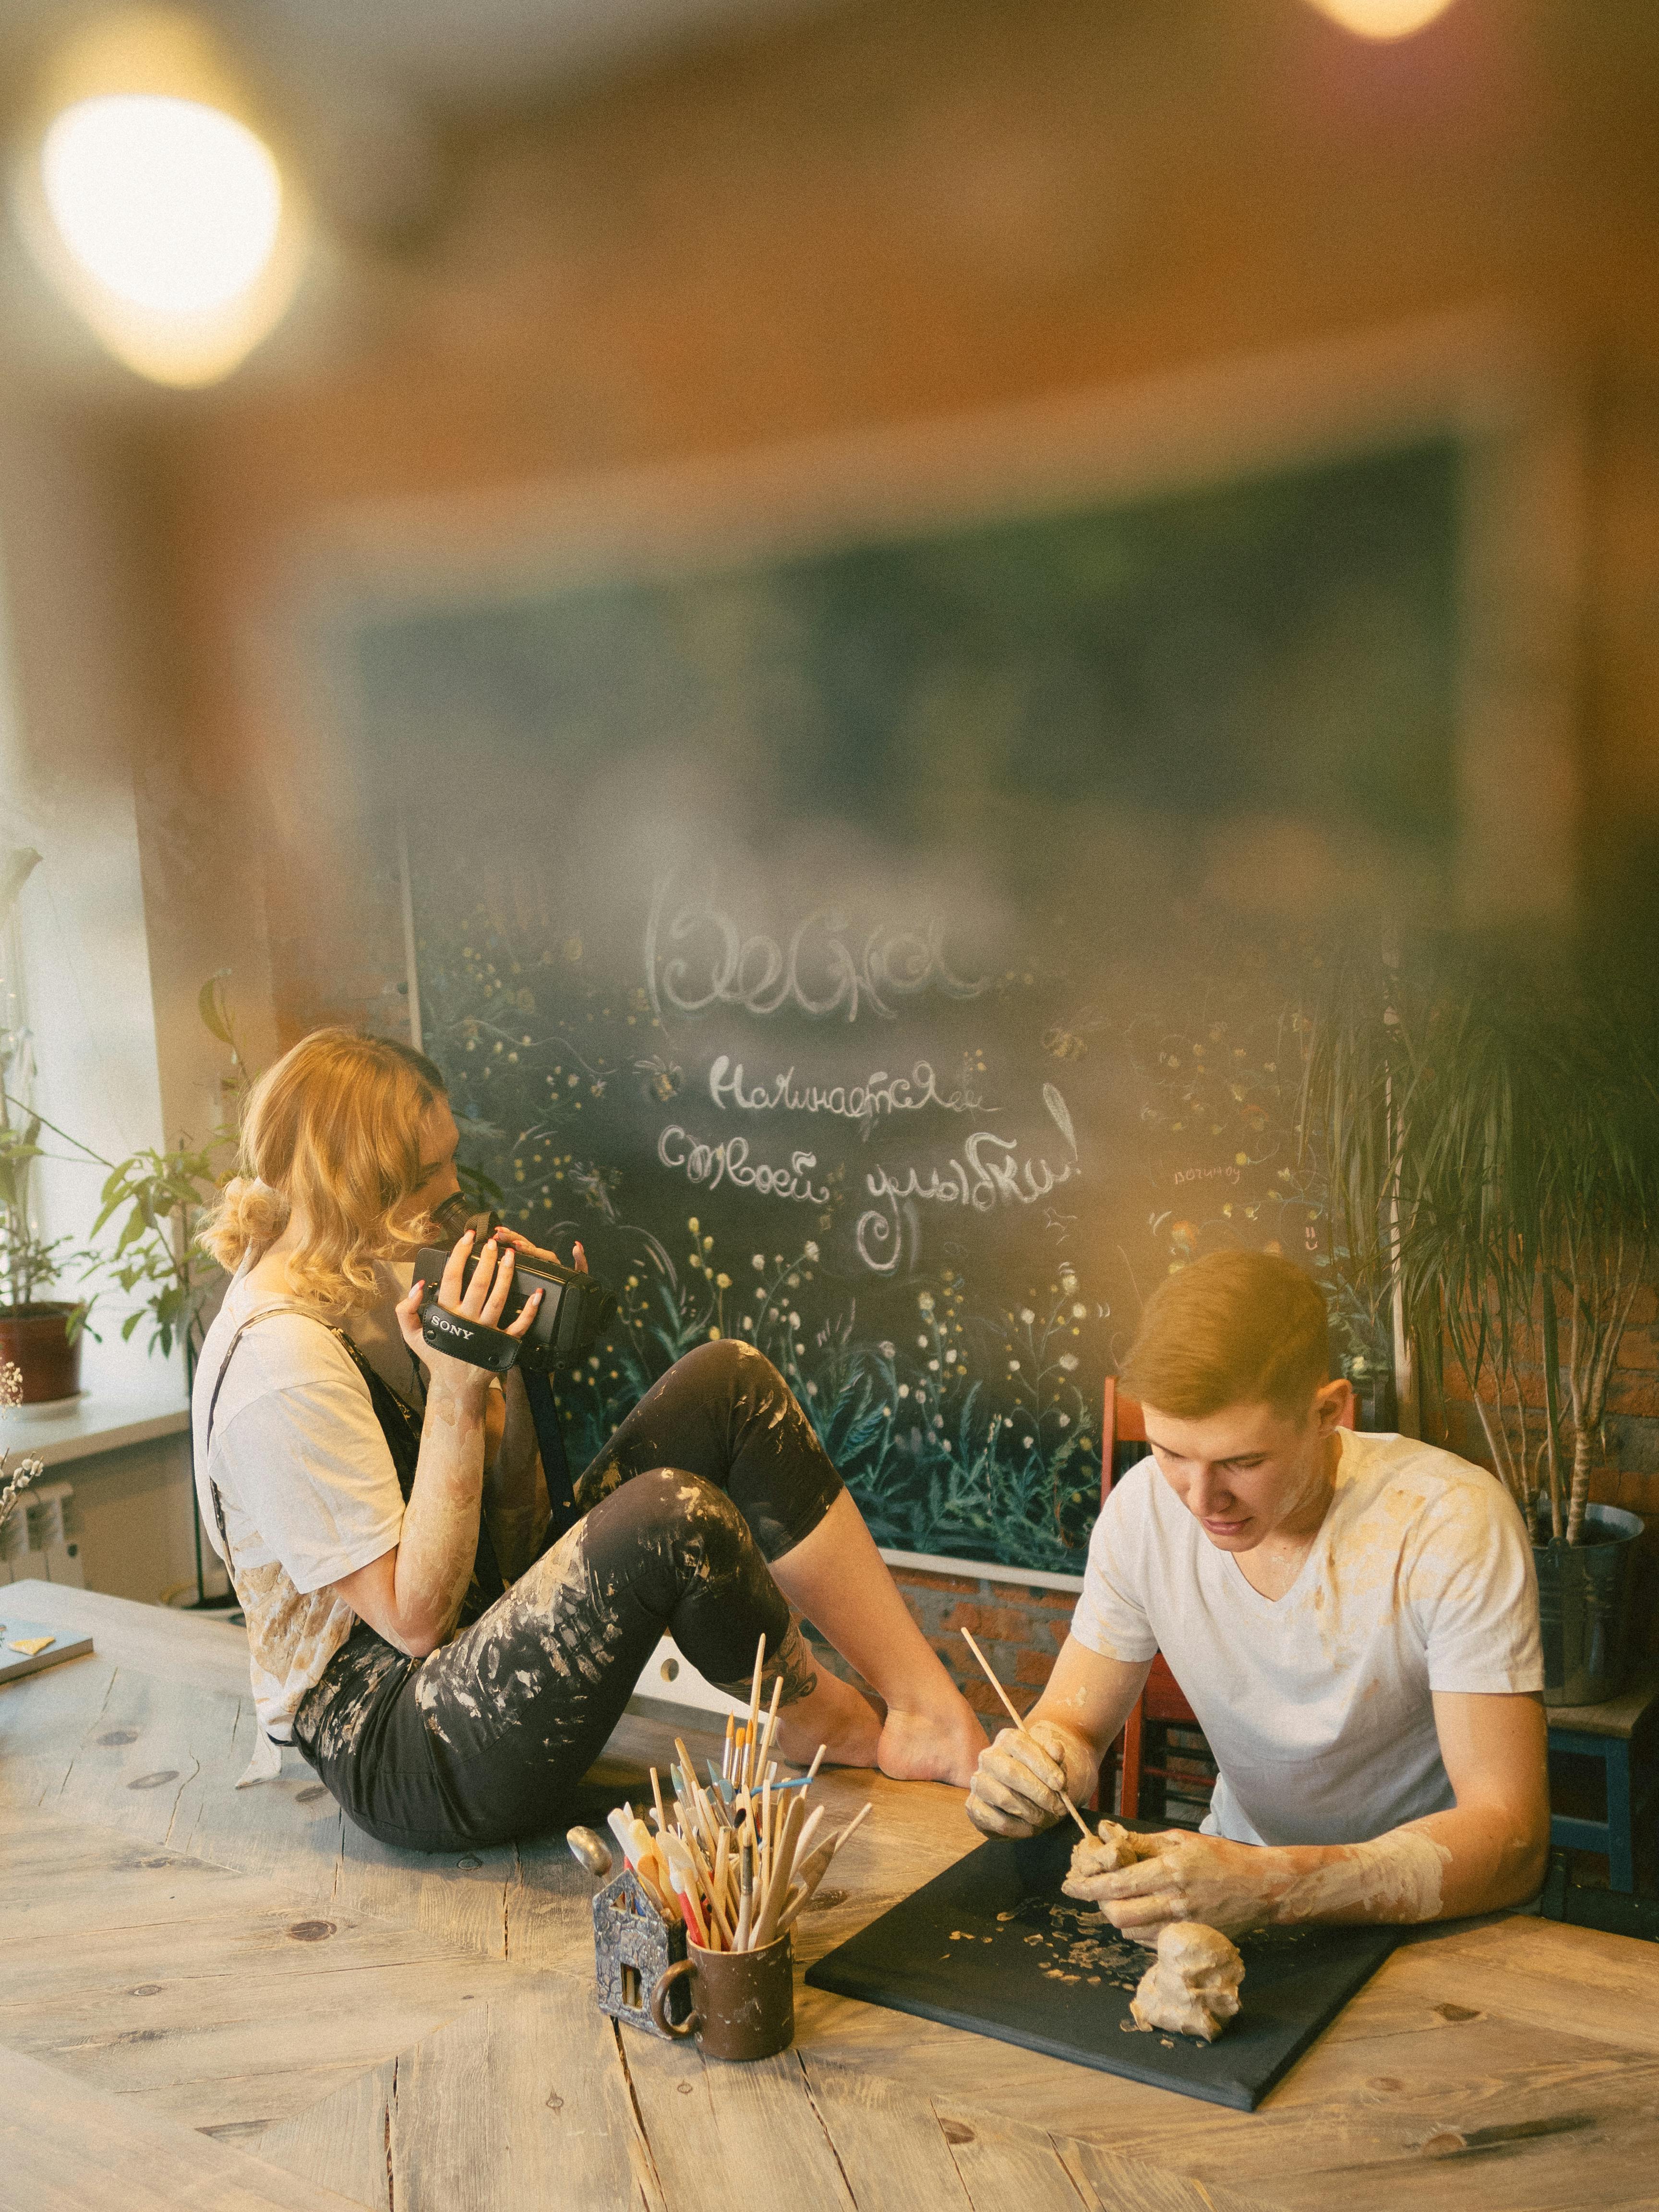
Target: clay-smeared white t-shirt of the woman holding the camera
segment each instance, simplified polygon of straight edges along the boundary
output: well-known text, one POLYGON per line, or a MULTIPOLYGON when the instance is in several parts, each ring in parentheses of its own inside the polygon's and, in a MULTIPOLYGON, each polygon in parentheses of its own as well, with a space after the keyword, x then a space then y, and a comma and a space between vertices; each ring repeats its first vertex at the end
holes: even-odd
MULTIPOLYGON (((407 1283, 394 1267, 378 1272, 385 1296, 354 1316, 352 1338, 405 1402, 418 1402, 420 1369, 392 1316, 407 1283)), ((327 1584, 392 1551, 403 1531, 403 1491, 352 1354, 292 1310, 270 1314, 237 1345, 208 1449, 208 1407, 230 1340, 252 1314, 281 1303, 237 1274, 201 1345, 192 1422, 201 1526, 223 1557, 212 1482, 248 1615, 259 1721, 288 1743, 294 1708, 356 1626, 356 1613, 327 1584)))

